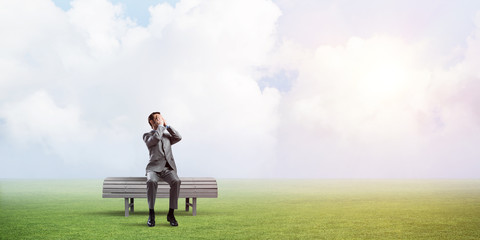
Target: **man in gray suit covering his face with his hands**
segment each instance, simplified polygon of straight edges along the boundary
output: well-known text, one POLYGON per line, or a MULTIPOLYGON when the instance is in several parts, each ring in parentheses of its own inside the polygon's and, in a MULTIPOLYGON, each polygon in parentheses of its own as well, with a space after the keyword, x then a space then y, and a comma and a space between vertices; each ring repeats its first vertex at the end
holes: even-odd
POLYGON ((153 112, 148 116, 148 123, 152 131, 143 134, 143 141, 147 144, 150 152, 150 162, 146 168, 147 176, 147 199, 149 217, 147 225, 155 226, 155 199, 157 195, 158 181, 163 180, 170 185, 170 209, 167 221, 171 226, 178 226, 173 214, 178 208, 178 195, 180 193, 180 179, 177 176, 177 166, 172 155, 171 145, 179 142, 182 137, 162 117, 160 112, 153 112))

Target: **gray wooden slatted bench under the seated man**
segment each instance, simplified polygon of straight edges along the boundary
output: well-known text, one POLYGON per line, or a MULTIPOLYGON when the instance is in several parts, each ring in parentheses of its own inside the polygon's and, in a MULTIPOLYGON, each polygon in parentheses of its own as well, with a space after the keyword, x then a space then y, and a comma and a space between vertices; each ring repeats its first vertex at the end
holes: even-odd
MULTIPOLYGON (((192 207, 193 216, 197 215, 197 198, 217 198, 218 188, 215 178, 180 178, 179 198, 185 198, 185 211, 192 207), (190 198, 193 202, 190 203, 190 198)), ((129 209, 134 211, 135 198, 147 198, 146 177, 107 177, 103 181, 103 198, 124 198, 125 217, 129 209)), ((168 198, 170 186, 166 182, 158 182, 157 198, 168 198)))

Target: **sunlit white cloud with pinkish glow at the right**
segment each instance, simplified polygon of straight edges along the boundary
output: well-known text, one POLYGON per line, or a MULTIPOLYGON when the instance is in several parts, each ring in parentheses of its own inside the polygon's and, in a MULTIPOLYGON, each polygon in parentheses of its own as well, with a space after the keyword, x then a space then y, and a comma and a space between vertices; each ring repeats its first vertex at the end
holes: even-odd
POLYGON ((279 135, 279 165, 293 165, 278 171, 291 177, 477 176, 477 45, 470 37, 465 59, 445 69, 425 61, 433 56, 424 43, 385 35, 314 50, 286 41, 276 65, 299 75, 280 104, 286 131, 279 135))

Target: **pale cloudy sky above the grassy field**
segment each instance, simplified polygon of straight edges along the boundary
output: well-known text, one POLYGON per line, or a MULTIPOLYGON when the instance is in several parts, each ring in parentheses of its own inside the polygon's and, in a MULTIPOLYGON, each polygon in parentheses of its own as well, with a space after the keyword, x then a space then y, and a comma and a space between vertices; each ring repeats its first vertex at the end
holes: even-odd
POLYGON ((0 0, 0 178, 479 178, 480 2, 0 0))

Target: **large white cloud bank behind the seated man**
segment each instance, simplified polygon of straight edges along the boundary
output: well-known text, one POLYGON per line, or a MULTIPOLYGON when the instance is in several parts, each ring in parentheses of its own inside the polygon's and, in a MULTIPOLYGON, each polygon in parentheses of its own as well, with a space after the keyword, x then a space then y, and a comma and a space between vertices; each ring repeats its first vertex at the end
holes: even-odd
POLYGON ((157 110, 183 135, 181 175, 268 176, 280 95, 258 87, 256 69, 275 44, 273 3, 161 4, 147 27, 108 1, 73 1, 67 12, 49 1, 6 5, 15 15, 2 31, 20 43, 1 43, 12 50, 2 58, 0 140, 38 159, 8 150, 3 177, 21 161, 50 162, 57 177, 142 175, 141 136, 157 110))

